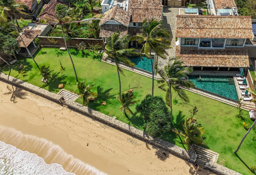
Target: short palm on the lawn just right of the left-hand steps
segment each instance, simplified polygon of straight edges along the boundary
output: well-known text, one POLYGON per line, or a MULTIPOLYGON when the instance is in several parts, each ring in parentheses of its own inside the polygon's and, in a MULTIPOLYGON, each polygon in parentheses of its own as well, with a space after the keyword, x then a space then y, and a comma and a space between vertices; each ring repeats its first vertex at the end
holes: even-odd
POLYGON ((83 99, 84 106, 88 106, 88 102, 89 102, 88 97, 89 96, 98 95, 96 93, 91 92, 92 87, 95 86, 95 84, 86 86, 84 81, 82 83, 77 81, 76 86, 77 86, 78 92, 75 92, 75 93, 77 95, 80 95, 80 97, 83 99))

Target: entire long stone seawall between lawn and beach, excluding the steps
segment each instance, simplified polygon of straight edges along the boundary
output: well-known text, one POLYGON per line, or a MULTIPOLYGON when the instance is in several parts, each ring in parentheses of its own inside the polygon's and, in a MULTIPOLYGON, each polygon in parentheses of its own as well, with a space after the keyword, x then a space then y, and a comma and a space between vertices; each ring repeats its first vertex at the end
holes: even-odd
MULTIPOLYGON (((19 80, 17 78, 14 78, 12 76, 9 76, 3 72, 0 72, 0 80, 12 84, 16 87, 25 89, 29 92, 32 92, 36 95, 42 96, 44 98, 47 98, 51 101, 54 101, 56 103, 63 103, 63 97, 60 95, 57 95, 55 93, 49 92, 48 90, 45 90, 43 88, 39 88, 35 85, 32 85, 30 83, 27 83, 25 81, 19 80)), ((172 143, 169 143, 167 141, 164 141, 162 139, 153 139, 151 136, 149 136, 144 131, 137 129, 133 126, 130 126, 124 122, 121 122, 117 119, 114 119, 112 117, 109 117, 103 113, 100 113, 96 110, 93 110, 91 108, 88 108, 82 104, 76 103, 74 101, 68 100, 65 103, 65 106, 68 108, 75 110, 79 113, 85 114, 91 118, 94 118, 104 124, 107 124, 108 126, 112 126, 124 133, 127 133, 129 135, 132 135, 135 138, 138 138, 142 141, 148 142, 151 145, 155 145, 157 147, 163 148, 169 152, 171 152, 173 155, 180 157, 182 159, 185 159, 186 161, 190 163, 195 163, 197 155, 195 153, 189 152, 188 150, 185 150, 183 148, 180 148, 176 145, 173 145, 172 143)), ((212 171, 218 175, 242 175, 236 171, 233 171, 227 167, 224 167, 220 164, 215 163, 216 161, 210 161, 209 159, 206 161, 204 168, 212 171)))

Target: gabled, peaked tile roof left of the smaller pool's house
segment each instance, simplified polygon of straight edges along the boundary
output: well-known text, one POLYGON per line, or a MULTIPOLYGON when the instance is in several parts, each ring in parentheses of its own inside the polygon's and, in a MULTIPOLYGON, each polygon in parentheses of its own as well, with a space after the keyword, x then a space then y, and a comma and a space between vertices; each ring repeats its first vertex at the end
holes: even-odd
MULTIPOLYGON (((123 10, 121 7, 118 7, 117 5, 114 8, 105 12, 104 15, 102 16, 102 19, 105 19, 105 20, 114 19, 115 21, 119 22, 120 24, 123 24, 126 27, 129 26, 130 18, 131 18, 131 13, 123 10)), ((105 22, 107 21, 100 20, 100 26, 103 25, 105 22)))

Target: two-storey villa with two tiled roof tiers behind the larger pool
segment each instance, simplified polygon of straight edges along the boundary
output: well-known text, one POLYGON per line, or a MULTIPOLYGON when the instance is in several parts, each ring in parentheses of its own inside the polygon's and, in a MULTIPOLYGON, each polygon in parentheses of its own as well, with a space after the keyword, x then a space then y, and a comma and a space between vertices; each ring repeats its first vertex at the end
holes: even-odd
POLYGON ((175 56, 194 70, 247 70, 249 57, 244 47, 252 38, 250 16, 177 15, 175 56))

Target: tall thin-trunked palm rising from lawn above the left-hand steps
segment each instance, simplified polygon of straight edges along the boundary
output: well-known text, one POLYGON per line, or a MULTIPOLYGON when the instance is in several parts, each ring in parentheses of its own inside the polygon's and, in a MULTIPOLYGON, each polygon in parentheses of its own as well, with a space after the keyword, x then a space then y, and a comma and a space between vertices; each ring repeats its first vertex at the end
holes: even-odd
MULTIPOLYGON (((69 22, 69 21, 73 21, 74 19, 76 19, 76 14, 72 13, 72 11, 73 11, 73 9, 72 8, 68 8, 68 6, 66 6, 66 5, 57 4, 56 5, 55 15, 56 15, 57 21, 61 25, 65 46, 66 46, 66 49, 68 51, 68 55, 70 57, 70 60, 71 60, 71 63, 73 65, 74 72, 75 72, 75 75, 76 75, 76 68, 75 68, 75 65, 73 63, 72 57, 71 57, 71 55, 69 53, 69 50, 68 50, 68 47, 67 47, 67 41, 66 41, 66 37, 65 37, 64 29, 63 29, 63 23, 69 22)), ((78 82, 77 75, 76 75, 76 82, 78 82)))

